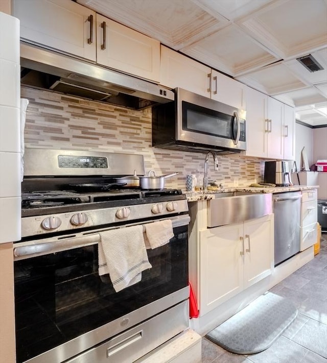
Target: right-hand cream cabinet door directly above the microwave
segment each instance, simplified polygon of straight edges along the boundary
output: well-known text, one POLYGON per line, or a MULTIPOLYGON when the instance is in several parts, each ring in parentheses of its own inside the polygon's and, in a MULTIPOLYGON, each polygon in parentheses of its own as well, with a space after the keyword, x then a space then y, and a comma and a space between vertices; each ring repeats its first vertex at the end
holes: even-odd
POLYGON ((245 85, 215 70, 211 74, 211 98, 241 110, 246 109, 245 85))

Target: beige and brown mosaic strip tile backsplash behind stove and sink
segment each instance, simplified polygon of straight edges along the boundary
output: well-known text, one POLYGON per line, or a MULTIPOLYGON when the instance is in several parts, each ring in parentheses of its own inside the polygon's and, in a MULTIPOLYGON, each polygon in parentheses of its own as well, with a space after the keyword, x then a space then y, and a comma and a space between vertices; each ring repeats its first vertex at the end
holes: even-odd
MULTIPOLYGON (((146 172, 178 172, 166 179, 168 188, 185 189, 185 177, 195 174, 202 185, 203 153, 156 149, 151 146, 151 109, 129 110, 49 91, 21 87, 30 101, 26 112, 25 146, 144 155, 146 172)), ((226 187, 263 181, 264 160, 239 154, 218 156, 219 170, 209 159, 208 177, 226 187)), ((133 171, 131 170, 131 174, 133 171)))

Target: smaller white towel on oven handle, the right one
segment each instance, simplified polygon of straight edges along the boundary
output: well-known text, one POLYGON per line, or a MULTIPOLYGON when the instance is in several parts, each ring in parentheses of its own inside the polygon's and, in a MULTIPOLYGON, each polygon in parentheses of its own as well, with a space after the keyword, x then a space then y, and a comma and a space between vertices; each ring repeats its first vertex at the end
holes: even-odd
POLYGON ((144 240, 147 249, 166 245, 174 237, 171 220, 158 221, 144 225, 144 240))

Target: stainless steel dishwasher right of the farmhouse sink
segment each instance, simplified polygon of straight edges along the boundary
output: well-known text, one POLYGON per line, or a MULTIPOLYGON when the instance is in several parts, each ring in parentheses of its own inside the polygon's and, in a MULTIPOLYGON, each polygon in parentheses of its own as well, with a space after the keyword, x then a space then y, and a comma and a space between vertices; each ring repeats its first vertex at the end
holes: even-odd
POLYGON ((301 192, 273 195, 275 266, 300 251, 301 192))

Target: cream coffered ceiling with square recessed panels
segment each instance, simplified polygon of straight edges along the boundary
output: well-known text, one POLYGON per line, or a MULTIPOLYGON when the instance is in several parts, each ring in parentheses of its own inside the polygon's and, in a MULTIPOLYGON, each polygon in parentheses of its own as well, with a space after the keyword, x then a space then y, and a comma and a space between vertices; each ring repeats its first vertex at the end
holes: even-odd
POLYGON ((327 0, 77 0, 327 124, 327 0), (296 58, 311 54, 323 69, 296 58))

